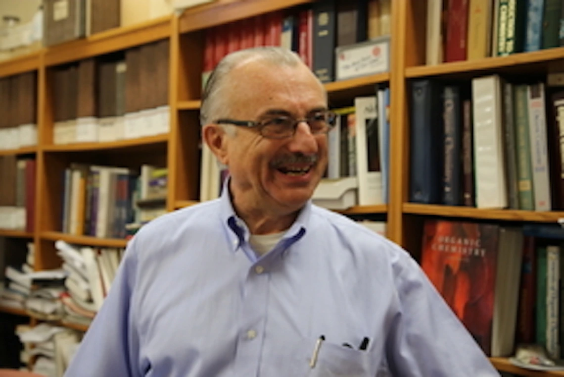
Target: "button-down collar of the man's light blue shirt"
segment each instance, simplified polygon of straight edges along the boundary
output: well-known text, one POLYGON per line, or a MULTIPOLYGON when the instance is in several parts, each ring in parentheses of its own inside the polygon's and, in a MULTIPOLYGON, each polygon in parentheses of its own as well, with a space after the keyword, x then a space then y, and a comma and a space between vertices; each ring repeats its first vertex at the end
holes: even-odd
MULTIPOLYGON (((221 218, 222 226, 227 233, 228 239, 232 240, 232 242, 230 242, 231 249, 233 252, 236 252, 240 248, 241 244, 249 241, 250 233, 245 222, 237 216, 235 209, 233 209, 231 193, 229 191, 230 181, 231 177, 227 177, 227 179, 223 182, 221 197, 219 198, 219 216, 221 218)), ((311 211, 312 203, 310 199, 299 212, 296 221, 294 221, 292 226, 290 226, 290 229, 288 229, 288 231, 284 234, 282 239, 285 241, 286 247, 289 247, 306 234, 306 229, 310 226, 311 211)))

